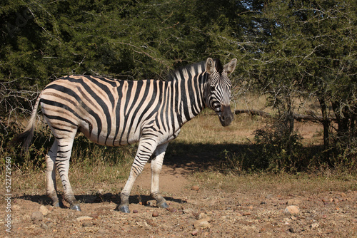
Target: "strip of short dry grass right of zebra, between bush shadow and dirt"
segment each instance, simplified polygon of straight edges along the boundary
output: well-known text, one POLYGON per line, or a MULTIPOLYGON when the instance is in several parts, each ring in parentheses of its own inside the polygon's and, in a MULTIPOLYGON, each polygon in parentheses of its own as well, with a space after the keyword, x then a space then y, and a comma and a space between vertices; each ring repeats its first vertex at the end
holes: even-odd
POLYGON ((198 183, 206 190, 223 190, 234 193, 251 192, 266 195, 313 195, 319 192, 357 190, 357 177, 350 173, 329 173, 328 170, 312 173, 253 173, 242 175, 224 175, 219 172, 198 172, 193 183, 198 183))

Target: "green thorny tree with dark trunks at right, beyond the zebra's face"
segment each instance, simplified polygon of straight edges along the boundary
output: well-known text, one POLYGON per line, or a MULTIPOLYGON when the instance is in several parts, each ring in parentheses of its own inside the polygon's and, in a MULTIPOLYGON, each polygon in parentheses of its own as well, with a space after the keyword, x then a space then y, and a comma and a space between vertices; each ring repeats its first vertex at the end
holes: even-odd
POLYGON ((337 138, 356 138, 356 7, 349 0, 266 1, 256 17, 256 81, 286 116, 290 133, 295 102, 317 98, 326 149, 334 129, 331 113, 337 138))

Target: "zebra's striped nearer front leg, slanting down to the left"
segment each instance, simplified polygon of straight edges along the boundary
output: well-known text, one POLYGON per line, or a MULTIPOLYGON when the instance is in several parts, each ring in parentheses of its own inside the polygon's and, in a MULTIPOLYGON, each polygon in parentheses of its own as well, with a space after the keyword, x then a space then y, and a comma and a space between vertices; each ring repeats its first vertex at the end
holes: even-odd
POLYGON ((156 143, 152 139, 141 139, 139 142, 138 151, 136 151, 136 156, 131 166, 129 178, 126 181, 126 185, 124 186, 123 190, 121 190, 120 198, 121 203, 117 207, 117 209, 121 212, 129 213, 129 196, 131 192, 131 188, 134 185, 136 177, 138 177, 143 171, 146 162, 148 162, 150 156, 153 154, 154 150, 156 149, 156 143))

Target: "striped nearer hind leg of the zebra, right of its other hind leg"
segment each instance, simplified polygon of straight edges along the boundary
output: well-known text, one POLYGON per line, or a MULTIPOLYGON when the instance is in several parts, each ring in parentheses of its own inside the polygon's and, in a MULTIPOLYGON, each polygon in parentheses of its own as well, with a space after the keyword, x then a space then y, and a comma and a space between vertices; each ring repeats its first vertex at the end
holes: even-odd
POLYGON ((69 202, 70 208, 76 211, 81 211, 79 202, 74 197, 71 183, 69 182, 69 158, 71 157, 72 143, 59 143, 56 157, 56 167, 59 170, 59 176, 61 177, 62 185, 64 186, 64 200, 69 202))

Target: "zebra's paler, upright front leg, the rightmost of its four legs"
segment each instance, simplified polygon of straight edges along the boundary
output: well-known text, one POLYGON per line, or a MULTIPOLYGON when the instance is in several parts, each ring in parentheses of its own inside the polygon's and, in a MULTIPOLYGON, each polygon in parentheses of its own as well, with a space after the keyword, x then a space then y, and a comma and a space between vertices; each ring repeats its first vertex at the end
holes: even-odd
POLYGON ((151 197, 154 197, 156 200, 156 205, 162 208, 168 208, 166 200, 159 194, 159 176, 162 168, 162 163, 164 161, 164 156, 166 152, 166 148, 169 143, 165 143, 163 145, 159 145, 151 160, 151 197))

